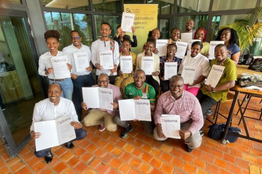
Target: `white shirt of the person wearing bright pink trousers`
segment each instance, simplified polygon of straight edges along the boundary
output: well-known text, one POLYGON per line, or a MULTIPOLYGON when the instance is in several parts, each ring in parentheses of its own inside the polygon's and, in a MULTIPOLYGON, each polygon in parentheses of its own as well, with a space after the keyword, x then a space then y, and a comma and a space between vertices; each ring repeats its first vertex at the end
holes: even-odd
MULTIPOLYGON (((191 57, 191 55, 184 56, 180 64, 178 74, 182 74, 184 66, 196 67, 194 80, 197 80, 201 75, 208 77, 210 67, 209 59, 200 53, 198 53, 195 57, 191 57)), ((200 88, 200 85, 201 84, 198 83, 191 87, 200 88)))

